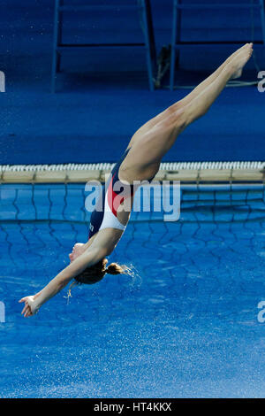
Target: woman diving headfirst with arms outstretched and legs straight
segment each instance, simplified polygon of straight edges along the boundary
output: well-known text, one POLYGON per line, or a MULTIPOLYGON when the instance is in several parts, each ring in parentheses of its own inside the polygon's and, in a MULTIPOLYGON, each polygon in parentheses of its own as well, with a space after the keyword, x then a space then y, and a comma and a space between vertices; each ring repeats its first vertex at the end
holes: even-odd
POLYGON ((106 273, 126 273, 115 263, 107 267, 106 256, 115 249, 125 231, 133 207, 133 181, 152 181, 163 155, 170 150, 178 135, 195 119, 204 115, 231 79, 238 78, 253 53, 253 43, 246 43, 193 91, 150 119, 133 135, 125 154, 112 169, 95 211, 91 215, 88 242, 75 244, 69 255, 71 263, 57 274, 39 293, 22 297, 24 317, 32 316, 51 297, 57 295, 72 279, 92 284, 106 273), (127 184, 128 192, 119 194, 117 184, 127 184), (129 209, 126 203, 130 200, 129 209), (115 202, 113 202, 115 198, 115 202), (100 209, 102 206, 102 210, 100 209), (125 209, 126 205, 126 209, 125 209), (99 209, 97 209, 99 208, 99 209))

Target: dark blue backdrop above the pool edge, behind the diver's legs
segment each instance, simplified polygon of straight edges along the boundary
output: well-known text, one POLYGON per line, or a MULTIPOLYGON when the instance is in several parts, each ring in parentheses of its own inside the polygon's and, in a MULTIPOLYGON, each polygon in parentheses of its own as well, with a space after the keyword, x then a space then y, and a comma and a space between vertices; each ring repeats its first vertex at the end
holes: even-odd
MULTIPOLYGON (((190 89, 150 93, 144 53, 130 49, 117 54, 65 54, 57 94, 50 94, 53 4, 51 0, 4 0, 0 6, 0 70, 6 76, 7 91, 0 95, 0 164, 114 162, 141 124, 190 89)), ((170 43, 172 1, 151 4, 159 51, 170 43)), ((85 18, 72 13, 66 20, 65 40, 72 42, 141 37, 133 14, 85 18)), ((260 16, 254 12, 252 18, 247 9, 188 12, 182 29, 185 40, 261 40, 260 16)), ((217 44, 183 49, 177 83, 188 86, 202 81, 236 48, 217 44)), ((258 70, 265 69, 264 50, 254 45, 245 81, 256 81, 258 70)), ((167 77, 164 85, 168 83, 167 77)), ((255 86, 225 89, 207 116, 179 137, 164 160, 264 159, 264 99, 255 86)))

